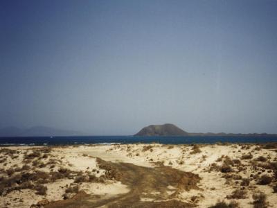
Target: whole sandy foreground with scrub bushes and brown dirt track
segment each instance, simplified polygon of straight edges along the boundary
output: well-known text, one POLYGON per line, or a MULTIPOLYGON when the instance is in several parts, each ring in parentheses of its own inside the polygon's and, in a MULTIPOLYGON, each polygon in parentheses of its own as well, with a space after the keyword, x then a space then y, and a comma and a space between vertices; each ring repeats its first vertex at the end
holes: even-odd
POLYGON ((1 207, 274 207, 275 144, 0 148, 1 207))

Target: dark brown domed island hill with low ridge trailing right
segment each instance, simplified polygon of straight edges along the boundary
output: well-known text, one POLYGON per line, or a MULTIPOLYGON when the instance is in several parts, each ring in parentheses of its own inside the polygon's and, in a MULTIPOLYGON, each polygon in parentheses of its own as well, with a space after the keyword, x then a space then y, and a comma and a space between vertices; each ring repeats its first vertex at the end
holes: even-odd
POLYGON ((276 134, 267 134, 267 133, 262 133, 262 134, 226 134, 224 132, 220 133, 189 133, 181 128, 177 127, 174 124, 171 123, 166 123, 163 125, 148 125, 144 128, 142 128, 136 135, 134 136, 201 136, 201 137, 220 137, 220 136, 229 136, 229 137, 260 137, 260 136, 274 136, 276 137, 276 134))

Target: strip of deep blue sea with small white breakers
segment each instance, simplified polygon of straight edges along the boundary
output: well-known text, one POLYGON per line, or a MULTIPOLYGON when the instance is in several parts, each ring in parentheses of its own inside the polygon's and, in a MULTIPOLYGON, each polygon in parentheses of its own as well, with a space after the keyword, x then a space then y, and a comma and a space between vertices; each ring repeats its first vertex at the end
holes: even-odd
POLYGON ((74 144, 215 144, 277 142, 277 137, 133 137, 133 136, 82 136, 82 137, 0 137, 0 146, 57 146, 74 144))

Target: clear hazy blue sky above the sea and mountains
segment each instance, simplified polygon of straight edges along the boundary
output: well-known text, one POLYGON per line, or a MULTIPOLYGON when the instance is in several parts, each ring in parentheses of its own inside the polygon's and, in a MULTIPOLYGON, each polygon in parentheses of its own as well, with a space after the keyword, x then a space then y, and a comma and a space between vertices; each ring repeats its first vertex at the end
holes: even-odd
POLYGON ((277 1, 0 1, 0 128, 277 133, 277 1))

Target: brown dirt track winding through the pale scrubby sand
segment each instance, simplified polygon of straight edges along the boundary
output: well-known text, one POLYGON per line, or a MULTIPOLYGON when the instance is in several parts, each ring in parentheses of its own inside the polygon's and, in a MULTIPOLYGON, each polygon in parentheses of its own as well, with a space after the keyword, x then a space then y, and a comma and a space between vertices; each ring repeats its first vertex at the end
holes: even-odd
POLYGON ((180 190, 198 189, 198 175, 169 166, 147 168, 129 163, 105 162, 102 159, 98 159, 98 164, 100 168, 106 169, 108 177, 126 184, 130 191, 116 197, 91 196, 81 191, 69 200, 51 202, 46 207, 193 207, 193 204, 174 198, 180 190), (167 191, 172 191, 168 186, 175 187, 175 193, 168 194, 167 191), (141 201, 141 198, 151 198, 153 201, 141 201))

